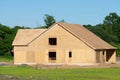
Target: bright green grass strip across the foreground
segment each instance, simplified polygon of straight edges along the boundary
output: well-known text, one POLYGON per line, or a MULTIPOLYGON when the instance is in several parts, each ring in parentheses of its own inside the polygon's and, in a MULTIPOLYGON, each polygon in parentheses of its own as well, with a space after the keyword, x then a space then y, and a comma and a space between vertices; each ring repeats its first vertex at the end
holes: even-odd
POLYGON ((120 68, 35 69, 0 66, 0 74, 20 80, 120 80, 120 68))

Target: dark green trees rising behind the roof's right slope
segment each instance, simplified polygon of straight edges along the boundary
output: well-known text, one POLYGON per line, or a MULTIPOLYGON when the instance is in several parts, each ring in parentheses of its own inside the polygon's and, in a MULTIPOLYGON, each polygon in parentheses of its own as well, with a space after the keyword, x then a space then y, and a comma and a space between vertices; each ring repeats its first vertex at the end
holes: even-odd
POLYGON ((120 55, 120 16, 117 13, 107 15, 102 24, 84 25, 97 36, 117 48, 117 55, 120 55))

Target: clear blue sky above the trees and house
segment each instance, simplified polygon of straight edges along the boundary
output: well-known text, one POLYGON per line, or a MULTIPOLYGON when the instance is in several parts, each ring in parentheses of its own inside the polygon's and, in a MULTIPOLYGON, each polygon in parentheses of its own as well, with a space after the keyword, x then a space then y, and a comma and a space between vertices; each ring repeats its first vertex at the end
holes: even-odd
POLYGON ((120 15, 120 0, 0 0, 0 23, 37 27, 44 25, 44 14, 68 23, 102 23, 110 12, 120 15))

